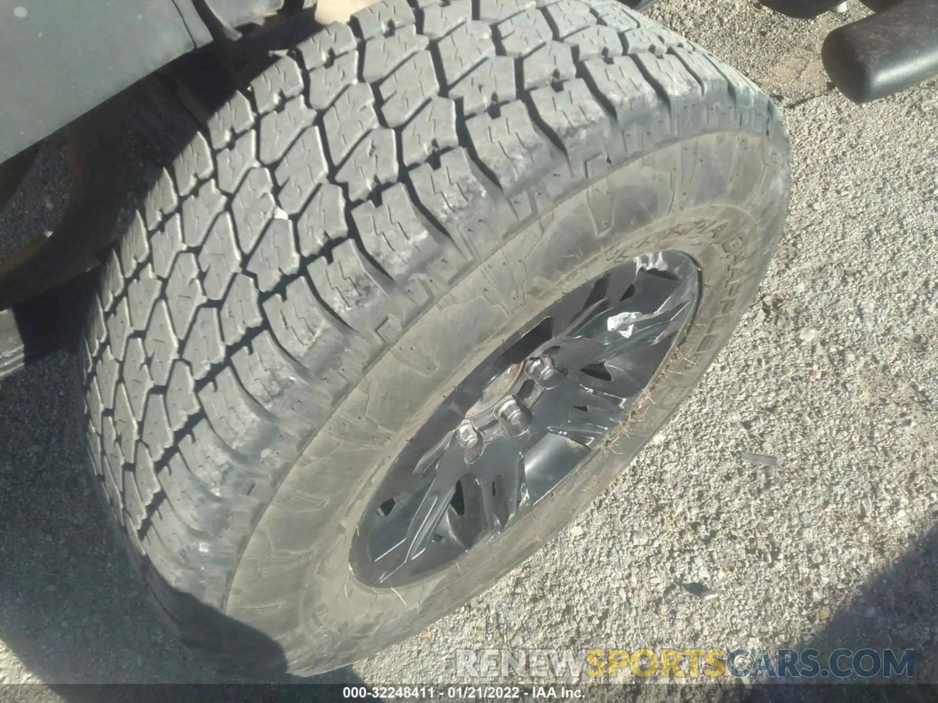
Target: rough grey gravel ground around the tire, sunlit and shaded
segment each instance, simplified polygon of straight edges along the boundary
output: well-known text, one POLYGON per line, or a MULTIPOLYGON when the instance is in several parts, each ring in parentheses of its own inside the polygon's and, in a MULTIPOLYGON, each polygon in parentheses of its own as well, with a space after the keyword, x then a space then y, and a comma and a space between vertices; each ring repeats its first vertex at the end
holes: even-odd
MULTIPOLYGON (((788 120, 794 202, 759 298, 671 426, 566 533, 340 676, 453 681, 461 648, 863 642, 923 652, 919 676, 938 681, 936 85, 867 107, 832 92, 820 49, 844 16, 795 22, 744 0, 654 14, 788 120)), ((61 168, 43 156, 38 195, 6 229, 48 226, 61 168)), ((219 681, 151 615, 98 511, 74 364, 54 355, 0 385, 0 682, 219 681)))

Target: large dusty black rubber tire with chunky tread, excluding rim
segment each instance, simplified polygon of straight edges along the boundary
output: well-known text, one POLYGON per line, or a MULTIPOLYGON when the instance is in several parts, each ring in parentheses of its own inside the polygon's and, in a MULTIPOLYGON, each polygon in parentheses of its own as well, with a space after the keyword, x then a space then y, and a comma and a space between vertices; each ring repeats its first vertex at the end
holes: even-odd
POLYGON ((563 529, 730 337, 786 215, 789 144, 733 68, 607 0, 390 0, 287 52, 161 172, 83 345, 93 471, 192 649, 311 674, 426 627, 563 529), (388 461, 499 340, 673 248, 696 317, 510 539, 394 592, 350 576, 388 461))

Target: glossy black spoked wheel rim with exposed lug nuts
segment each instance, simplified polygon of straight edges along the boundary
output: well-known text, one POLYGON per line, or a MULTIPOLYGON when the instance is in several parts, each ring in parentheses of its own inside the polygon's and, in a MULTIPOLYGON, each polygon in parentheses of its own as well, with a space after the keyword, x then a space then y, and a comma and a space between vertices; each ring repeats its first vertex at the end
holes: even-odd
POLYGON ((359 522, 353 572, 406 584, 484 548, 622 424, 696 307, 696 266, 645 255, 567 292, 472 371, 397 457, 359 522))

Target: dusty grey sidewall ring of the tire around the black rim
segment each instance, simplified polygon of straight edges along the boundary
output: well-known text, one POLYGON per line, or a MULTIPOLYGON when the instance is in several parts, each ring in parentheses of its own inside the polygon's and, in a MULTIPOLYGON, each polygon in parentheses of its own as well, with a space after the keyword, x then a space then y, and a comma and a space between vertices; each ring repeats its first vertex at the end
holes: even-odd
POLYGON ((478 264, 371 366, 287 474, 234 576, 228 615, 277 638, 297 673, 326 670, 416 633, 562 530, 676 410, 753 296, 784 217, 787 171, 766 169, 765 179, 749 183, 740 175, 752 172, 757 159, 760 172, 765 163, 783 161, 774 148, 749 135, 673 143, 585 187, 478 264), (670 200, 641 191, 654 182, 647 171, 672 169, 688 142, 695 153, 719 155, 726 139, 736 146, 734 169, 696 178, 670 200), (618 262, 664 249, 697 263, 701 298, 680 353, 653 384, 628 432, 458 566, 395 591, 359 583, 348 560, 356 525, 394 457, 435 405, 566 292, 618 262), (276 617, 257 607, 262 603, 277 603, 276 617))

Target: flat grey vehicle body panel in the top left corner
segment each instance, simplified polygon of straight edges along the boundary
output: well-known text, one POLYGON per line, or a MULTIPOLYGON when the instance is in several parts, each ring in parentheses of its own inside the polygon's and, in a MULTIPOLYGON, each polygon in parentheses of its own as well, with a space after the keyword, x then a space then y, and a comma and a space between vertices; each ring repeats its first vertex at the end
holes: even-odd
POLYGON ((0 0, 0 162, 282 0, 0 0), (209 26, 217 24, 217 27, 209 26))

